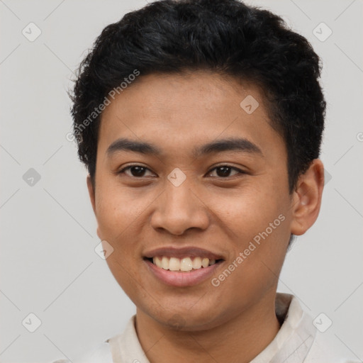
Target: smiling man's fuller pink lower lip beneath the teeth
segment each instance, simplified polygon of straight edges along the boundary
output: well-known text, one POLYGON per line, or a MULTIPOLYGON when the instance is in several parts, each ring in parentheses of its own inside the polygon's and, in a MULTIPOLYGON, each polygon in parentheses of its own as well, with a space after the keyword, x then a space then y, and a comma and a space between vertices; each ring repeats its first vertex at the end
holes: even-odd
POLYGON ((150 262, 148 259, 144 259, 144 262, 147 264, 148 269, 152 272, 152 274, 160 279, 165 284, 170 286, 194 286, 196 284, 200 284, 202 281, 211 277, 213 273, 218 269, 220 264, 223 262, 218 262, 216 264, 211 264, 208 267, 201 267, 200 269, 192 269, 191 271, 179 272, 179 271, 170 271, 169 269, 162 269, 161 267, 157 267, 155 264, 150 262))

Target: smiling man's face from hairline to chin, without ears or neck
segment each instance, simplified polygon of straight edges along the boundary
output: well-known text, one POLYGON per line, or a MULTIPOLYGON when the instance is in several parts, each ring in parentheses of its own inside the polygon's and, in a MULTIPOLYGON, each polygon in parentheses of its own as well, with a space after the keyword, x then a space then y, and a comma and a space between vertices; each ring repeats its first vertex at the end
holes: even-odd
POLYGON ((202 330, 273 296, 293 223, 286 160, 251 84, 152 74, 111 101, 88 185, 106 262, 139 311, 202 330), (247 96, 259 106, 242 108, 247 96))

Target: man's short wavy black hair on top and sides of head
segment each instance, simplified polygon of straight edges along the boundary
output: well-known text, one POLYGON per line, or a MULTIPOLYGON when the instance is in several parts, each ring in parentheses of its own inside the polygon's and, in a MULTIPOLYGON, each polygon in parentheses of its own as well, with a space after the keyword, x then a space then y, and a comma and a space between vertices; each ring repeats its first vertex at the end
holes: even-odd
POLYGON ((92 182, 100 105, 110 91, 119 94, 121 83, 130 84, 135 74, 194 70, 259 87, 272 128, 286 145, 291 194, 298 177, 320 155, 326 107, 318 82, 320 58, 281 17, 238 0, 154 1, 102 30, 70 94, 79 159, 92 182))

